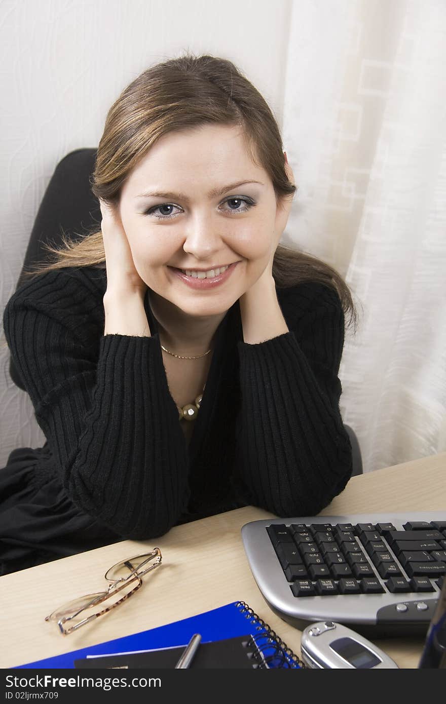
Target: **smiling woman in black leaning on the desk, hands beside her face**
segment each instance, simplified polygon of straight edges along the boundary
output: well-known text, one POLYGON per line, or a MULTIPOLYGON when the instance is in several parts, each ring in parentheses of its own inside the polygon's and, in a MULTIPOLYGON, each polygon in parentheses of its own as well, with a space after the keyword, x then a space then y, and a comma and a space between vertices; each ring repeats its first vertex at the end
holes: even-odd
POLYGON ((342 277, 279 246, 296 187, 270 108, 190 54, 111 107, 101 232, 64 240, 4 313, 47 443, 0 472, 3 573, 257 505, 344 489, 342 277))

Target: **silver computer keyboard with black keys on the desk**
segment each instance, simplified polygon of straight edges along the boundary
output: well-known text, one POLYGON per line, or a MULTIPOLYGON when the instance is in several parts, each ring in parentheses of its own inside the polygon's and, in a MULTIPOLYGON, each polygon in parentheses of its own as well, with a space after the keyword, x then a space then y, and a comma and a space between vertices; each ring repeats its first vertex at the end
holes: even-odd
POLYGON ((426 633, 446 573, 446 511, 252 521, 242 541, 266 603, 299 629, 426 633))

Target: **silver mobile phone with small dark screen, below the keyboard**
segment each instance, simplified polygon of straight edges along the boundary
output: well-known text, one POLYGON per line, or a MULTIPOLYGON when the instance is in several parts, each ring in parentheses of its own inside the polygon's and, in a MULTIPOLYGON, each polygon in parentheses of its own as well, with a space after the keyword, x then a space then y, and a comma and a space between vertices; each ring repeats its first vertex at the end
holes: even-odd
POLYGON ((302 660, 312 669, 398 667, 383 650, 334 621, 318 621, 302 633, 302 660))

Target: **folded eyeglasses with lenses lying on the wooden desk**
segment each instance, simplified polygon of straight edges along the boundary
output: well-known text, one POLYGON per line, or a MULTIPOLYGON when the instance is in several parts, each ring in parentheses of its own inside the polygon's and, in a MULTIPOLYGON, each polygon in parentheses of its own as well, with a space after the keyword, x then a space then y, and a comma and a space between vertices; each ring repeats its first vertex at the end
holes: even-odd
POLYGON ((56 621, 64 636, 73 633, 89 621, 111 611, 141 589, 141 577, 159 567, 161 560, 160 549, 154 548, 151 553, 116 562, 116 565, 110 567, 104 575, 109 582, 106 591, 86 594, 63 604, 45 617, 45 621, 56 621), (81 620, 79 621, 78 618, 81 620))

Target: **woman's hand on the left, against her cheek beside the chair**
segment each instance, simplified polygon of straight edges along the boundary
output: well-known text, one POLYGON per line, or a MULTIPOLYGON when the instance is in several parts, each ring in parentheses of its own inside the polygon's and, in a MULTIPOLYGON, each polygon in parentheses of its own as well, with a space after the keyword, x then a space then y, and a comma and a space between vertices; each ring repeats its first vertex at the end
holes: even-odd
POLYGON ((118 208, 109 206, 99 199, 101 207, 101 231, 106 257, 108 297, 139 294, 142 299, 147 284, 138 274, 132 257, 127 235, 120 219, 118 208))

